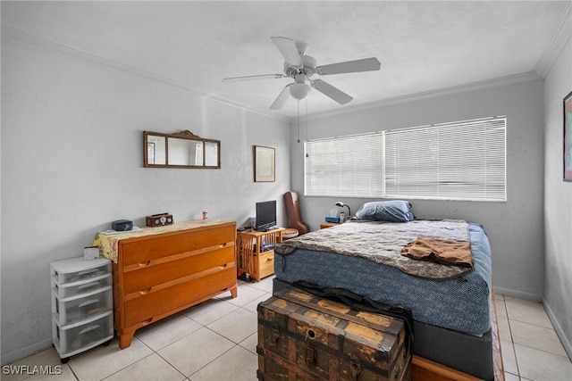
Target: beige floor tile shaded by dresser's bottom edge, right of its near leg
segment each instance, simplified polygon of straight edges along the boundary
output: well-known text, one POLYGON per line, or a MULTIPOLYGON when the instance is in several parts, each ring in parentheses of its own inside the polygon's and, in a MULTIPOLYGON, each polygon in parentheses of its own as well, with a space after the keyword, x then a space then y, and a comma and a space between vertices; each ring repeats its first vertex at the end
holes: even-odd
POLYGON ((182 337, 202 327, 196 321, 189 319, 185 315, 177 314, 167 319, 162 319, 147 327, 135 331, 135 335, 143 344, 146 344, 153 351, 176 342, 182 337))

